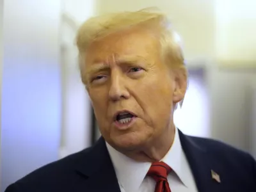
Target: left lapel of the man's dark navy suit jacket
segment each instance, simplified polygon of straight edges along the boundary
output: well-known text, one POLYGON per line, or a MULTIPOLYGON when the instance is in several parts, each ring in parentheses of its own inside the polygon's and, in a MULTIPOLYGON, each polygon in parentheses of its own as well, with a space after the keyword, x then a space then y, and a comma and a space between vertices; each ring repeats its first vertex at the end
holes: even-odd
POLYGON ((115 169, 109 157, 104 139, 100 138, 93 148, 89 150, 86 161, 84 159, 83 162, 77 164, 77 173, 86 179, 80 182, 81 186, 79 186, 79 189, 88 192, 120 192, 115 169))

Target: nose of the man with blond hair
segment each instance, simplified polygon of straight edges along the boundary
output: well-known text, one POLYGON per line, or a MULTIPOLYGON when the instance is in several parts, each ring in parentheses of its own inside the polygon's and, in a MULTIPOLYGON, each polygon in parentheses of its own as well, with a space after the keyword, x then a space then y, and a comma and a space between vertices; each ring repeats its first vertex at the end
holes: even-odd
POLYGON ((125 82, 125 79, 120 74, 112 73, 109 88, 109 99, 113 101, 129 99, 130 94, 125 86, 126 84, 127 82, 125 82))

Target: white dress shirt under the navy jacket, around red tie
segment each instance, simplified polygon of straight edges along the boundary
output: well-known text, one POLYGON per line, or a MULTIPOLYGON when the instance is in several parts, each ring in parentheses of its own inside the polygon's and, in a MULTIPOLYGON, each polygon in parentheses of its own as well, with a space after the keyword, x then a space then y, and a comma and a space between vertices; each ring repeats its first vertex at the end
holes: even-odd
MULTIPOLYGON (((141 163, 125 156, 106 143, 115 168, 118 184, 122 192, 154 192, 156 181, 146 177, 151 163, 141 163)), ((168 182, 172 192, 197 192, 195 180, 188 160, 180 145, 179 132, 175 129, 172 147, 161 159, 172 168, 168 182)))

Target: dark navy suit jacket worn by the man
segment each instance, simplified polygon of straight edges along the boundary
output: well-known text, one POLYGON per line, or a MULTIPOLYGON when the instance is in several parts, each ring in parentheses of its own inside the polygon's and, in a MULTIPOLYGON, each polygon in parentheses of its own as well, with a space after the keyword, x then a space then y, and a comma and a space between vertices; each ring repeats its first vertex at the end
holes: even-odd
MULTIPOLYGON (((186 136, 179 131, 199 192, 255 192, 252 156, 219 141, 186 136), (211 170, 221 182, 212 179, 211 170)), ((39 168, 10 185, 6 192, 120 192, 103 138, 90 148, 39 168)), ((136 191, 134 191, 136 192, 136 191)))

